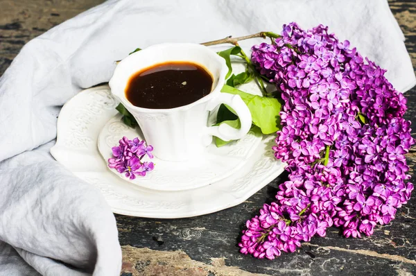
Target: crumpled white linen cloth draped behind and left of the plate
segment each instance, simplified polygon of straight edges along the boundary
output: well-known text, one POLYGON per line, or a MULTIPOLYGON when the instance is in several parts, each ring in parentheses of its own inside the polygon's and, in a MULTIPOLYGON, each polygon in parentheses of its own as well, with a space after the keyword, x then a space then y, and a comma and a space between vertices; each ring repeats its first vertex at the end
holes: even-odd
MULTIPOLYGON (((328 25, 388 69, 396 89, 415 85, 404 35, 384 0, 107 1, 28 42, 0 79, 0 275, 120 272, 110 207, 49 155, 69 98, 107 82, 114 60, 137 47, 280 33, 291 21, 328 25)), ((249 51, 261 41, 241 46, 249 51)))

